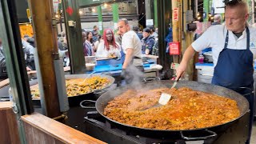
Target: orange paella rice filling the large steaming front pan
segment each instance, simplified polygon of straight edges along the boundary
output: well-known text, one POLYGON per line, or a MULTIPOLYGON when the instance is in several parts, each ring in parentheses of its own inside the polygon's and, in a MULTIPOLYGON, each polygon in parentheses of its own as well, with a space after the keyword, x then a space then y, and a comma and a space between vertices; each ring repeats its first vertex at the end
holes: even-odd
POLYGON ((180 89, 127 90, 108 102, 106 117, 129 126, 157 130, 193 130, 230 122, 240 115, 237 102, 216 94, 180 89), (158 103, 162 92, 172 98, 158 103))

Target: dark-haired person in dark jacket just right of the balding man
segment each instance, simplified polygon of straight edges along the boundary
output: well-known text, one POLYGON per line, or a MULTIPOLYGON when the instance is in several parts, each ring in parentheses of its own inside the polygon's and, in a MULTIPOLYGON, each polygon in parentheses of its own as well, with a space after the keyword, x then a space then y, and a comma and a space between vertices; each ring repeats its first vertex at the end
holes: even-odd
POLYGON ((142 54, 152 54, 154 38, 150 35, 150 29, 145 28, 142 34, 142 54))

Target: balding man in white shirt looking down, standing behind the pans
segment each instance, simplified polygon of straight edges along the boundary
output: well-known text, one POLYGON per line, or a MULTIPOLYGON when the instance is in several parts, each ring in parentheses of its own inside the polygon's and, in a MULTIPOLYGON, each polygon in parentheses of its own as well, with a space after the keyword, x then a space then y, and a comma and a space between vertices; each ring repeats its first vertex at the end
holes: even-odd
MULTIPOLYGON (((118 21, 118 32, 122 34, 122 50, 126 54, 125 61, 122 65, 122 75, 125 75, 126 82, 130 83, 134 78, 134 68, 143 69, 142 62, 142 43, 138 35, 131 30, 127 19, 122 18, 118 21)), ((138 74, 138 73, 137 73, 138 74)))

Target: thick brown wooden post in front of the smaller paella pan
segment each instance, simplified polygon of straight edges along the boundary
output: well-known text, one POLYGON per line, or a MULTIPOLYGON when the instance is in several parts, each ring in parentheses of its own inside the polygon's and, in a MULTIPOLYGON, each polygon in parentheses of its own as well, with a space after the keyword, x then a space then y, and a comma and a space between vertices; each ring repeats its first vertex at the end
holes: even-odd
MULTIPOLYGON (((32 13, 34 38, 38 50, 39 70, 42 78, 41 100, 50 118, 61 115, 54 73, 54 59, 58 59, 57 29, 54 28, 53 1, 29 1, 32 13)), ((40 83, 39 83, 40 84, 40 83)))

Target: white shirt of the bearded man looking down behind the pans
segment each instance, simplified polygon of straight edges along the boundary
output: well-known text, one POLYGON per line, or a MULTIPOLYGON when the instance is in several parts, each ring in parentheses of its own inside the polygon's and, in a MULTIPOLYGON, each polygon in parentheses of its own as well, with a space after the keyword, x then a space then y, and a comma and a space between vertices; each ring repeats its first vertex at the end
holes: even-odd
POLYGON ((127 48, 134 49, 134 56, 142 58, 142 42, 133 30, 130 30, 126 32, 126 34, 123 34, 122 50, 125 54, 127 48))

